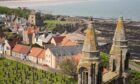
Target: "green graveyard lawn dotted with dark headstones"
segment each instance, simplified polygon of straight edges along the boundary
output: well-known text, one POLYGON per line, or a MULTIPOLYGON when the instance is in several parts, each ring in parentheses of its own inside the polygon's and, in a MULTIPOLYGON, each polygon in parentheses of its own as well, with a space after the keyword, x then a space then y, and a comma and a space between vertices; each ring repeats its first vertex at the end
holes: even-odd
POLYGON ((0 58, 0 84, 76 84, 74 79, 0 58))

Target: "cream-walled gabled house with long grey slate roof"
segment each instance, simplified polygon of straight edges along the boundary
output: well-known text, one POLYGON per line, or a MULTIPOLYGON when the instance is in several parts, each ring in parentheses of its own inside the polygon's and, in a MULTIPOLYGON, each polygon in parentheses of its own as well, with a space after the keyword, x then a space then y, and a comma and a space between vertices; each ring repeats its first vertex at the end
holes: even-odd
POLYGON ((51 68, 59 68, 59 63, 81 53, 81 46, 57 46, 46 50, 46 62, 51 68))

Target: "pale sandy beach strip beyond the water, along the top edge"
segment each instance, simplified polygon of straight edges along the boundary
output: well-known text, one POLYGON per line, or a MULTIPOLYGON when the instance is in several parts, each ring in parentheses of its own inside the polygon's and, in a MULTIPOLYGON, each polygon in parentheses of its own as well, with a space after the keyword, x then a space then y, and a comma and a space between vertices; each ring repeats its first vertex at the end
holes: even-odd
POLYGON ((56 4, 69 4, 78 2, 87 2, 95 0, 14 0, 14 1, 0 1, 0 6, 7 7, 26 7, 38 5, 56 5, 56 4))

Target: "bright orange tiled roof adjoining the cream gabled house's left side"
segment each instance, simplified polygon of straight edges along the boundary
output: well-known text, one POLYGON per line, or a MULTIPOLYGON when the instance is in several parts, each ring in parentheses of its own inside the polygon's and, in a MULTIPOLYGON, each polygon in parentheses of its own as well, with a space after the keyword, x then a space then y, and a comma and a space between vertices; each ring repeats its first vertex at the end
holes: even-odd
POLYGON ((45 50, 41 49, 41 48, 33 47, 31 49, 29 56, 34 56, 34 57, 38 57, 38 58, 45 58, 45 50))

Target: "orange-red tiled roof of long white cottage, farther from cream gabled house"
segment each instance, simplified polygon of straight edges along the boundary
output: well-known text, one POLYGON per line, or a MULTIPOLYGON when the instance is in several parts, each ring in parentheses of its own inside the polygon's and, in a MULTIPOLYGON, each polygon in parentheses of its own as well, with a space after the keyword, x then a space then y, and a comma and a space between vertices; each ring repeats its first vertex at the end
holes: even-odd
POLYGON ((12 51, 18 52, 18 53, 23 53, 23 54, 28 54, 28 52, 30 51, 30 46, 16 44, 12 51))

